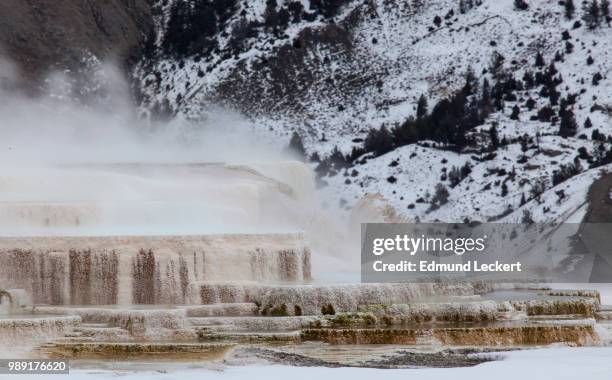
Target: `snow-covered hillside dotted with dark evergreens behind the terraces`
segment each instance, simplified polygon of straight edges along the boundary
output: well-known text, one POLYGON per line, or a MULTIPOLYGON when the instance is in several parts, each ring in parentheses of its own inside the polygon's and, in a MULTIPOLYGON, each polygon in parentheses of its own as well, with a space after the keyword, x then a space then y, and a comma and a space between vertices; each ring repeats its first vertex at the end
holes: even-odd
POLYGON ((414 117, 421 95, 433 112, 468 72, 468 103, 490 95, 485 80, 512 83, 459 148, 396 141, 320 170, 333 206, 380 193, 421 220, 566 220, 607 168, 612 28, 603 16, 589 28, 581 2, 570 18, 556 0, 213 1, 226 6, 216 30, 173 50, 184 3, 155 5, 155 47, 133 72, 143 110, 200 120, 229 107, 279 146, 297 132, 308 156, 363 148, 370 130, 414 117))

